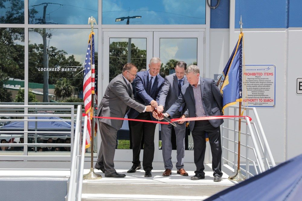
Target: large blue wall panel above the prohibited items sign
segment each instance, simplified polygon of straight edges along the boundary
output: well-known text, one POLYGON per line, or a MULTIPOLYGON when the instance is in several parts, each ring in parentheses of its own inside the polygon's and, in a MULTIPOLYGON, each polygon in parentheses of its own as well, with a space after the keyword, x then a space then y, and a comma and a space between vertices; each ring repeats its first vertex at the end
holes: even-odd
POLYGON ((288 0, 236 0, 235 28, 240 28, 240 15, 243 28, 287 28, 287 3, 288 0))

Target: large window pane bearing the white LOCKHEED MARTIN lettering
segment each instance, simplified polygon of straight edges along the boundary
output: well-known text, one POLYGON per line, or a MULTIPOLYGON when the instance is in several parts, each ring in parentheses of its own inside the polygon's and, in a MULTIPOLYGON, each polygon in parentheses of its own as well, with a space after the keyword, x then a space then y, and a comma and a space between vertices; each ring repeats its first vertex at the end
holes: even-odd
MULTIPOLYGON (((83 102, 82 64, 90 31, 91 29, 29 29, 29 102, 83 102), (46 35, 44 41, 42 35, 46 35), (43 44, 47 52, 44 52, 43 44)), ((95 29, 94 32, 97 36, 98 30, 95 29)), ((95 69, 98 69, 97 37, 95 69)))

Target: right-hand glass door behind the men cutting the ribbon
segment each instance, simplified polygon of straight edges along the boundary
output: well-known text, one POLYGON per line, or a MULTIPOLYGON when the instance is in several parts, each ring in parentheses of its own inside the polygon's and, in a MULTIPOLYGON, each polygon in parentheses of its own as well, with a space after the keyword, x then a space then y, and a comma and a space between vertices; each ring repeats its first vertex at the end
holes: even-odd
MULTIPOLYGON (((187 66, 198 65, 201 77, 204 74, 204 31, 193 32, 154 32, 154 48, 153 55, 161 58, 161 71, 165 76, 173 74, 174 67, 178 61, 185 61, 187 66)), ((172 162, 176 161, 176 136, 172 130, 172 162)), ((157 153, 157 161, 162 162, 161 148, 161 128, 159 125, 159 135, 155 135, 155 150, 157 153)), ((209 147, 209 144, 207 145, 209 147)), ((185 137, 185 162, 194 162, 194 144, 189 127, 186 129, 185 137)), ((208 155, 205 155, 205 162, 208 161, 208 155)), ((154 161, 156 158, 154 158, 154 161)))

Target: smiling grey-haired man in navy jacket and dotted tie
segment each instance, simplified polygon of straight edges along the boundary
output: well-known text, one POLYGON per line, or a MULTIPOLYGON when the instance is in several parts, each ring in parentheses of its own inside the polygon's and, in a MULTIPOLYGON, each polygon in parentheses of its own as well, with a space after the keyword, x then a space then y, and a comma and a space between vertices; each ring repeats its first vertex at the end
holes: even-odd
MULTIPOLYGON (((135 79, 135 95, 134 98, 144 105, 151 105, 157 108, 158 103, 156 100, 159 99, 159 90, 164 83, 164 78, 159 75, 159 70, 162 62, 159 58, 153 57, 149 63, 149 70, 138 72, 135 79)), ((152 113, 149 111, 139 113, 134 109, 130 109, 128 117, 132 119, 142 119, 142 120, 153 120, 152 113)), ((131 135, 132 135, 132 151, 133 151, 133 165, 128 170, 128 173, 136 172, 141 168, 140 165, 140 145, 142 136, 144 133, 144 153, 143 153, 143 168, 145 172, 145 177, 151 177, 151 170, 153 157, 154 157, 154 123, 131 121, 131 135)))

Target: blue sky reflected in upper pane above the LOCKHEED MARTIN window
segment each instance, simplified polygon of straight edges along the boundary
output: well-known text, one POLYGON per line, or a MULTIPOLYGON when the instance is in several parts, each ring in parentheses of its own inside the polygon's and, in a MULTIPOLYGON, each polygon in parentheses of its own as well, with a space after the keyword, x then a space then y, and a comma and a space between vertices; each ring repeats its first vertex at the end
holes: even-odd
MULTIPOLYGON (((93 16, 98 23, 98 1, 95 0, 28 0, 28 8, 38 11, 35 18, 43 18, 43 7, 46 7, 46 24, 87 24, 88 17, 93 16), (37 5, 37 6, 34 6, 37 5)), ((39 20, 30 20, 29 24, 41 24, 39 20)))

